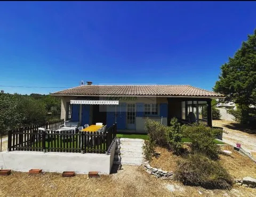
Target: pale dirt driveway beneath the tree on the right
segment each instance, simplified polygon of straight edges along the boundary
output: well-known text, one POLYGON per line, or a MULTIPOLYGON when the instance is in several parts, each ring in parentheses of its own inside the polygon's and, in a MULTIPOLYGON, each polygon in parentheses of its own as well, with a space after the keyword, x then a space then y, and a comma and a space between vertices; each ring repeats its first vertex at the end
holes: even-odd
POLYGON ((223 142, 233 146, 239 142, 245 151, 251 154, 256 152, 256 130, 243 128, 243 126, 227 120, 213 120, 212 125, 225 128, 227 134, 223 133, 223 142))

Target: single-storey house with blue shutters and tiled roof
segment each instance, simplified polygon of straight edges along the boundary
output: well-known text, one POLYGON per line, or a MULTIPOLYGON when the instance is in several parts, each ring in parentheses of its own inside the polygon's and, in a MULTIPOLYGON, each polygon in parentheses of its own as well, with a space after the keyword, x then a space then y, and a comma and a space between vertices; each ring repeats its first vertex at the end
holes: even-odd
POLYGON ((225 97, 190 85, 92 85, 91 81, 52 95, 61 98, 61 119, 81 125, 116 122, 118 132, 132 133, 145 133, 147 117, 169 125, 173 117, 188 120, 189 112, 212 126, 211 100, 225 97))

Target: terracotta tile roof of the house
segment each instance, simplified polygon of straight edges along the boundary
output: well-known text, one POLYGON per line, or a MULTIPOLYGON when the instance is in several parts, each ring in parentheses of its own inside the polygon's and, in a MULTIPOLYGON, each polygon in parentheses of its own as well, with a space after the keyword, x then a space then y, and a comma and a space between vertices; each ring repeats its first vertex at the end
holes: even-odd
POLYGON ((224 96, 190 85, 82 85, 52 95, 224 96))

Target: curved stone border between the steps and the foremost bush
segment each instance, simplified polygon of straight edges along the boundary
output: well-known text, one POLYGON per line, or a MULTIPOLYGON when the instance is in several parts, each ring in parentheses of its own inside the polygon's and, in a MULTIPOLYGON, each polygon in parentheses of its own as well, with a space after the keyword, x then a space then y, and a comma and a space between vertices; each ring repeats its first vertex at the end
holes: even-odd
POLYGON ((146 172, 150 175, 156 176, 156 178, 162 179, 173 179, 173 171, 165 171, 161 168, 153 168, 149 165, 148 162, 143 163, 143 168, 146 169, 146 172))

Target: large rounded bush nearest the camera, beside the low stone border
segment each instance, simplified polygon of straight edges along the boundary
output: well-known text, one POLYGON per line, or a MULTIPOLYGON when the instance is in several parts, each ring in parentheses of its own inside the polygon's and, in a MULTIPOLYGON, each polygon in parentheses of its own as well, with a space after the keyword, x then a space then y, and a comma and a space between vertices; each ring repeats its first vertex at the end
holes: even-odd
POLYGON ((228 171, 218 161, 201 154, 188 155, 188 158, 179 160, 174 175, 175 179, 185 185, 220 189, 227 189, 232 185, 228 171))

